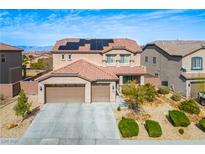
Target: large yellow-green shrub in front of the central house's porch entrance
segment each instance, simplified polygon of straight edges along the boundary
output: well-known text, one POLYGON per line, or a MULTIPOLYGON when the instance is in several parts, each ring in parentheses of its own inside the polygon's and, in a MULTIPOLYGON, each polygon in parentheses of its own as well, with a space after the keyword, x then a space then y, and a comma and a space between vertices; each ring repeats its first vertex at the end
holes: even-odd
POLYGON ((129 81, 127 84, 123 85, 121 92, 129 108, 133 110, 137 110, 139 104, 144 102, 145 88, 136 84, 136 81, 129 81))

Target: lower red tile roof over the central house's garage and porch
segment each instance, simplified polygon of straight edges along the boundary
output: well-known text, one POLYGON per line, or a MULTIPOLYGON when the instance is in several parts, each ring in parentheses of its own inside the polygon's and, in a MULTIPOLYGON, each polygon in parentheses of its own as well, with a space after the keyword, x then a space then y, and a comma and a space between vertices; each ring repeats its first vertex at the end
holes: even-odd
POLYGON ((75 61, 65 67, 59 68, 40 77, 43 80, 49 76, 79 76, 89 81, 118 80, 117 75, 140 75, 146 74, 143 66, 120 66, 102 67, 96 66, 86 60, 75 61))

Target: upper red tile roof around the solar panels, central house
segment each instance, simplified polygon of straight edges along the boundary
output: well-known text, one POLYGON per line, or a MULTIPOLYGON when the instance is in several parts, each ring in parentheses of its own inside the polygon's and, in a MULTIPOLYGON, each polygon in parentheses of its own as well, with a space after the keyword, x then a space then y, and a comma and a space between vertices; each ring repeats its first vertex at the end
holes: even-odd
MULTIPOLYGON (((141 47, 131 39, 126 38, 118 38, 118 39, 104 39, 111 40, 111 43, 108 43, 108 46, 103 45, 102 50, 93 50, 91 49, 91 45, 89 43, 84 43, 83 45, 79 45, 78 50, 68 50, 68 49, 60 49, 61 46, 65 46, 67 43, 78 43, 80 44, 81 38, 65 38, 62 40, 56 41, 54 47, 52 48, 52 52, 93 52, 93 53, 104 53, 110 51, 112 49, 125 49, 133 53, 141 52, 141 47)), ((84 41, 93 41, 93 40, 103 40, 103 39, 83 39, 84 41)), ((101 44, 102 45, 102 44, 101 44)))

